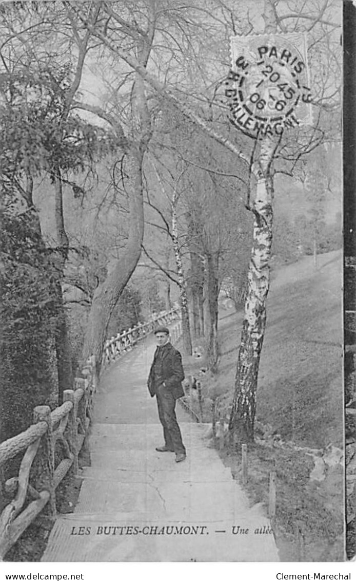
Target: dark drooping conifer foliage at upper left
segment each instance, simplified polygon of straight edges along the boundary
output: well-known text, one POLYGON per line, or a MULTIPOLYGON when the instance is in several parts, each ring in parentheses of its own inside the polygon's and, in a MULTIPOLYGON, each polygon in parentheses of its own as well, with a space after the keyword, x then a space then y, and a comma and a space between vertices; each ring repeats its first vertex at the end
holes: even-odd
MULTIPOLYGON (((3 74, 0 88, 5 95, 1 163, 3 180, 13 184, 22 173, 32 177, 61 171, 88 171, 97 157, 114 148, 110 134, 67 114, 71 66, 42 67, 3 74)), ((18 183, 18 182, 17 182, 18 183)), ((72 184, 74 196, 81 188, 72 184)))

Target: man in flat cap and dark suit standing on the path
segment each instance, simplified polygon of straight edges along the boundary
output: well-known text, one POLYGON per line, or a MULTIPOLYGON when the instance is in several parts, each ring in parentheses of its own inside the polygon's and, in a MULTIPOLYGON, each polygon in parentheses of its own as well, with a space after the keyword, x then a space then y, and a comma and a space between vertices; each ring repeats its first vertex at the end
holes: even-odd
POLYGON ((184 379, 181 354, 169 342, 169 329, 155 330, 157 349, 148 375, 148 390, 151 397, 157 397, 159 421, 163 426, 165 445, 156 448, 158 452, 175 452, 176 462, 186 459, 186 449, 176 418, 176 400, 184 396, 181 382, 184 379))

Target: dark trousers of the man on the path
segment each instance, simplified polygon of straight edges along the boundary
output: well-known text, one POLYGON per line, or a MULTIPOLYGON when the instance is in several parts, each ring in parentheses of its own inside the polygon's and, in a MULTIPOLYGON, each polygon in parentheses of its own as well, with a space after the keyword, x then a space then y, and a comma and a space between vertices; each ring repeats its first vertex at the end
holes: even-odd
POLYGON ((176 454, 185 454, 186 449, 181 440, 181 433, 176 418, 176 400, 173 394, 160 385, 155 390, 158 406, 159 421, 163 426, 165 445, 175 451, 176 454))

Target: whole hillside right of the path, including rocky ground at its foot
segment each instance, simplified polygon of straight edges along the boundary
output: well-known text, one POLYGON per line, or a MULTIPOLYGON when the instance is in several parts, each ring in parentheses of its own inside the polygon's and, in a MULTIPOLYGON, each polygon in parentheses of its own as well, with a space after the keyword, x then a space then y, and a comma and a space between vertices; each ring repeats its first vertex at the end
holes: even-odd
MULTIPOLYGON (((218 408, 226 419, 241 322, 242 313, 221 310, 219 373, 202 383, 205 397, 220 394, 218 408)), ((281 561, 344 558, 342 363, 342 253, 319 255, 317 270, 313 257, 276 268, 245 489, 267 511, 269 475, 275 471, 273 528, 281 561)), ((198 364, 202 360, 186 361, 187 374, 197 374, 198 364)), ((210 410, 211 400, 205 400, 205 422, 211 421, 210 410)), ((241 481, 239 450, 225 447, 220 454, 241 481)))

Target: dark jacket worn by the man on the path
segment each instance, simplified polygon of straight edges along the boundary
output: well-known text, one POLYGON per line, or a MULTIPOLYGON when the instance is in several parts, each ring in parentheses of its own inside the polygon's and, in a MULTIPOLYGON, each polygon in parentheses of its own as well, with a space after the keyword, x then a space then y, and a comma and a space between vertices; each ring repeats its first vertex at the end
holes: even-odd
MULTIPOLYGON (((184 390, 181 382, 184 379, 183 365, 181 364, 181 354, 171 343, 166 343, 159 349, 163 348, 162 352, 162 382, 165 382, 165 389, 173 394, 175 399, 184 396, 184 390)), ((148 390, 153 397, 155 395, 155 378, 154 378, 154 365, 155 360, 158 356, 158 349, 156 349, 154 358, 152 361, 150 375, 148 375, 148 390)))

